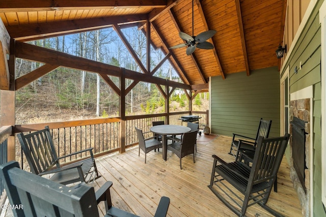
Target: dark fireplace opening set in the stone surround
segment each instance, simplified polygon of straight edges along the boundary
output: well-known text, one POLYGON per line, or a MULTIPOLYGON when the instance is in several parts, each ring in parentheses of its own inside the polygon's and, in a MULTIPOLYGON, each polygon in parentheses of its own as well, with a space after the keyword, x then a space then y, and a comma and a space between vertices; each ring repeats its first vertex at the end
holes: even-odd
POLYGON ((305 193, 307 194, 307 189, 305 185, 305 169, 307 169, 305 154, 307 133, 305 132, 305 121, 300 118, 293 117, 291 125, 293 167, 298 175, 298 178, 302 184, 305 193))

